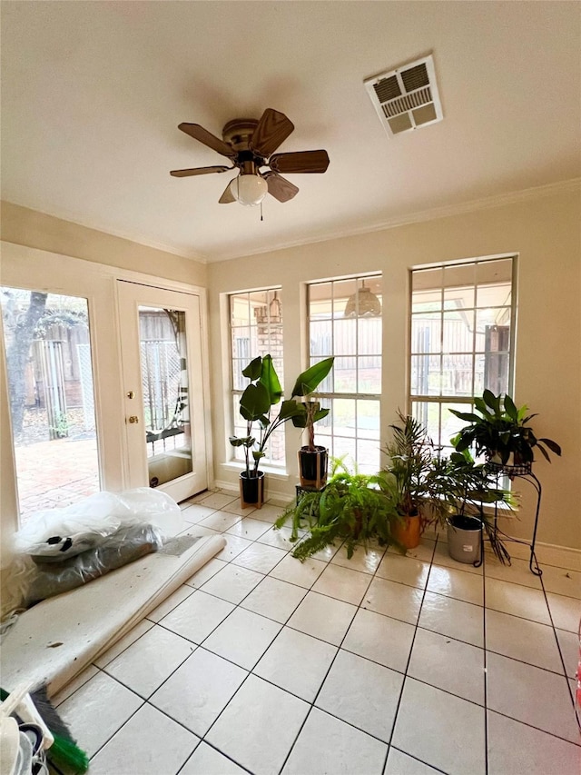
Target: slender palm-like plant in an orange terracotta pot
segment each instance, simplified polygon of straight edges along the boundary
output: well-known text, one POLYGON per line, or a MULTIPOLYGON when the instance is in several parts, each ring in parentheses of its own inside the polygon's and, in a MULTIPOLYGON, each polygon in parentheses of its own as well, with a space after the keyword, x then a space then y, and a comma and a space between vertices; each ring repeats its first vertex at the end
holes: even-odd
POLYGON ((434 447, 419 420, 398 411, 399 424, 390 425, 392 440, 382 450, 389 462, 394 497, 401 521, 395 527, 398 541, 406 549, 415 549, 427 521, 421 514, 433 496, 432 460, 434 447))

